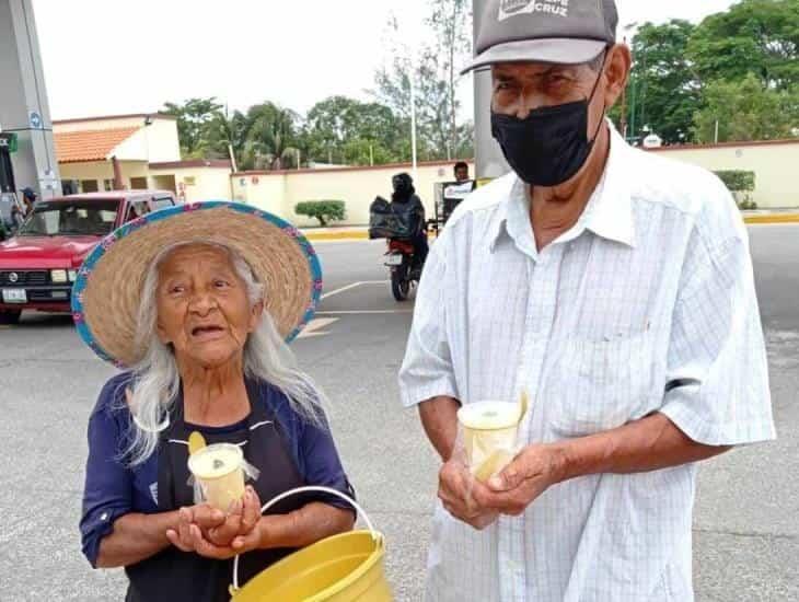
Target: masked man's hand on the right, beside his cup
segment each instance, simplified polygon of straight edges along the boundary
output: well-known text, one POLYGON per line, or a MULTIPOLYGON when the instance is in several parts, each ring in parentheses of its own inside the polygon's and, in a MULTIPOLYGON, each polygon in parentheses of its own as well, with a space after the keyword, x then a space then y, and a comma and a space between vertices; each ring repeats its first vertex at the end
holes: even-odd
POLYGON ((475 501, 485 509, 518 517, 552 485, 559 483, 560 455, 554 445, 529 445, 505 470, 476 488, 475 501))

